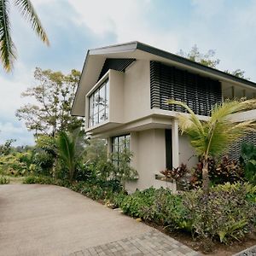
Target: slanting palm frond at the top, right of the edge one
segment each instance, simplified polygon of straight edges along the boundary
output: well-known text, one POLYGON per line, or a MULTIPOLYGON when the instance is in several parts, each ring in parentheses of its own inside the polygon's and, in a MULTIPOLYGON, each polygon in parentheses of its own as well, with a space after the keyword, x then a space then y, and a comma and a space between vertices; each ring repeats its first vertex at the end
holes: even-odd
POLYGON ((49 45, 49 39, 44 27, 41 24, 41 21, 38 18, 36 10, 33 8, 30 0, 15 0, 15 5, 20 9, 21 15, 25 17, 26 20, 29 20, 32 29, 38 34, 38 37, 47 45, 49 45))

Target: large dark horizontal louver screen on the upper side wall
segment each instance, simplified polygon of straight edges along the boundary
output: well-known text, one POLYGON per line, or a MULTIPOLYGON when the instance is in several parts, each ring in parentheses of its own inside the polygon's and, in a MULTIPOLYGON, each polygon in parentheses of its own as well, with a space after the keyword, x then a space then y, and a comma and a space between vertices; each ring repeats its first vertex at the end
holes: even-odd
POLYGON ((201 115, 209 115, 212 106, 222 101, 219 81, 156 61, 150 61, 150 96, 151 108, 185 112, 181 107, 166 103, 175 99, 201 115))

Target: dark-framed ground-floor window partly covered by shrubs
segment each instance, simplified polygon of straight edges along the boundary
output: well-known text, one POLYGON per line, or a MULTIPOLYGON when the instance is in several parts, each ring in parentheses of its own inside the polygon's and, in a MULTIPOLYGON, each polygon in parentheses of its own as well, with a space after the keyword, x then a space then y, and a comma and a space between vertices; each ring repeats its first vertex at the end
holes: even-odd
POLYGON ((130 141, 130 134, 112 137, 112 160, 115 166, 119 166, 119 154, 122 153, 125 149, 130 149, 130 141))

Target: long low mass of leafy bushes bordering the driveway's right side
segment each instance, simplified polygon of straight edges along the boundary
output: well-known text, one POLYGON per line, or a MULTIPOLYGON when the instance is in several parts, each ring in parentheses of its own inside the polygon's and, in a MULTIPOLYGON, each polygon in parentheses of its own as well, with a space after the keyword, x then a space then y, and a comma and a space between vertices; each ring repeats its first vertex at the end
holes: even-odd
POLYGON ((150 188, 113 201, 132 217, 189 231, 210 243, 228 243, 240 240, 255 226, 255 196, 256 187, 248 183, 225 183, 209 195, 201 189, 173 195, 169 189, 150 188))

